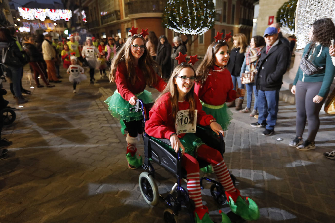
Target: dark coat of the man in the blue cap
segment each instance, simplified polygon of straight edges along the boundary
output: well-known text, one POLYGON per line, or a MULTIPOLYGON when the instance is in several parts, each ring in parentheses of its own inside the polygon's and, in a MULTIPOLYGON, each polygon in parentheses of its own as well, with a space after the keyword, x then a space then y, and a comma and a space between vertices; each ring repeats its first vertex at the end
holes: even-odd
POLYGON ((281 88, 283 84, 283 75, 286 72, 286 67, 289 55, 289 47, 277 40, 266 53, 266 46, 262 49, 261 57, 258 62, 258 73, 255 77, 257 90, 273 91, 281 88), (276 44, 276 42, 278 43, 276 44))

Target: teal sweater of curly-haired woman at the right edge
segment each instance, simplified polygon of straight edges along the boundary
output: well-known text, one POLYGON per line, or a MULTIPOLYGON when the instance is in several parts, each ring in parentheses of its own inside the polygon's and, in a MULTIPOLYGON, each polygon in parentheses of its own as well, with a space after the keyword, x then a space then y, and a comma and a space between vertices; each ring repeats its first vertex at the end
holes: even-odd
MULTIPOLYGON (((307 53, 309 46, 310 44, 306 45, 304 49, 303 57, 307 53)), ((332 84, 334 75, 335 75, 335 67, 332 63, 331 56, 329 55, 328 51, 329 51, 329 48, 327 46, 323 46, 319 44, 318 46, 315 46, 313 56, 310 57, 310 55, 313 52, 313 49, 312 49, 308 57, 309 59, 313 58, 311 62, 316 67, 325 67, 326 70, 324 73, 308 76, 307 74, 303 73, 303 71, 299 67, 298 72, 295 75, 293 85, 296 85, 298 80, 302 82, 321 82, 322 81, 321 89, 318 95, 323 98, 327 97, 326 93, 329 91, 330 85, 332 84)))

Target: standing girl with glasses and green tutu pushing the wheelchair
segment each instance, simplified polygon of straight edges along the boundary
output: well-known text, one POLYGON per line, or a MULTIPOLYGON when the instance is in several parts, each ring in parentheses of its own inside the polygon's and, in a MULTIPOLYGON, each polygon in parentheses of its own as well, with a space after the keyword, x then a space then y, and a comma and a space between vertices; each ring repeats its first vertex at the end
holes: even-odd
POLYGON ((150 57, 145 47, 142 35, 133 35, 127 39, 122 48, 115 55, 110 73, 110 81, 116 83, 117 90, 106 99, 111 114, 120 119, 121 132, 127 128, 126 158, 130 169, 142 165, 142 157, 136 157, 136 142, 138 133, 142 134, 142 114, 130 112, 137 99, 145 104, 152 103, 151 93, 144 90, 147 85, 162 91, 166 83, 157 76, 153 67, 157 63, 150 57))

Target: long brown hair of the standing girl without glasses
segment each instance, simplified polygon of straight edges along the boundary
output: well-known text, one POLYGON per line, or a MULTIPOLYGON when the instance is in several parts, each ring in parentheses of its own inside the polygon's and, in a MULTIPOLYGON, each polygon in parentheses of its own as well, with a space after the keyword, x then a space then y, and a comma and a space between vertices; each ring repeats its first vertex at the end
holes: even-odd
POLYGON ((215 53, 219 51, 219 49, 222 46, 227 46, 229 49, 229 46, 227 42, 212 42, 206 51, 205 57, 202 60, 201 64, 197 68, 197 76, 200 79, 200 84, 203 85, 208 77, 208 73, 211 69, 214 67, 214 62, 215 62, 215 53))

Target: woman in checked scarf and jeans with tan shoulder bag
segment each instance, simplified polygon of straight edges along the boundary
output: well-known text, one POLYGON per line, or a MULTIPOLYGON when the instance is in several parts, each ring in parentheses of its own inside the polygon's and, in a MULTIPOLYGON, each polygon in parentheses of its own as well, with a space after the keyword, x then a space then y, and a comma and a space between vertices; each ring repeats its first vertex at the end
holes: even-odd
POLYGON ((247 107, 244 109, 240 110, 241 113, 249 113, 251 111, 251 101, 252 101, 252 93, 254 91, 255 95, 255 101, 254 101, 254 108, 252 112, 250 113, 250 116, 253 117, 254 115, 258 114, 258 107, 257 107, 257 96, 258 96, 258 90, 256 89, 256 85, 254 83, 254 80, 250 80, 251 82, 249 83, 243 83, 243 80, 245 78, 247 79, 253 79, 252 74, 250 72, 255 72, 257 70, 257 64, 259 61, 259 58, 261 57, 261 52, 263 47, 265 46, 265 40, 262 36, 253 36, 250 40, 250 46, 248 46, 244 61, 241 67, 241 81, 242 84, 245 84, 246 89, 247 89, 247 107))

